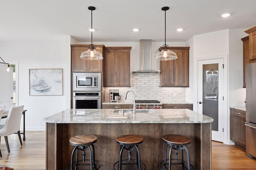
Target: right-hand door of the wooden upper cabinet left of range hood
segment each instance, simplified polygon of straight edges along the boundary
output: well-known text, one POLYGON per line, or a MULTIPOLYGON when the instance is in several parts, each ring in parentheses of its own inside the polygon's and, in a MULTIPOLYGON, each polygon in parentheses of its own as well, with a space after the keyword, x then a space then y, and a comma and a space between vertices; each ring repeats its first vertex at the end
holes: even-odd
POLYGON ((117 50, 117 86, 130 87, 130 50, 117 50))

